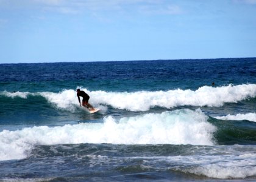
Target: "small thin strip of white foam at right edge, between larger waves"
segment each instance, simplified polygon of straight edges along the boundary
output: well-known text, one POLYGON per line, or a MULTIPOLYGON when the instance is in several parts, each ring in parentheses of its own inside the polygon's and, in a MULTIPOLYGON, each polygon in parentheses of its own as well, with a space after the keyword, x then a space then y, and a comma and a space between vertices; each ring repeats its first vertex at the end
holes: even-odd
POLYGON ((215 118, 218 120, 235 120, 235 121, 248 120, 248 121, 256 122, 256 113, 245 113, 245 114, 238 113, 236 115, 216 116, 215 118))

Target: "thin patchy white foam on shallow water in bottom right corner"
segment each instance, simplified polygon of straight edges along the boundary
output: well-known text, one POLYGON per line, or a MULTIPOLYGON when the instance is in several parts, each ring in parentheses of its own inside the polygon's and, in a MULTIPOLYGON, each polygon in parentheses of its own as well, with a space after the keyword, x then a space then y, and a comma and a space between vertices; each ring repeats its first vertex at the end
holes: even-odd
POLYGON ((256 176, 255 146, 215 146, 212 150, 205 150, 204 155, 167 157, 166 161, 172 166, 179 164, 177 167, 169 167, 170 169, 209 178, 256 176))

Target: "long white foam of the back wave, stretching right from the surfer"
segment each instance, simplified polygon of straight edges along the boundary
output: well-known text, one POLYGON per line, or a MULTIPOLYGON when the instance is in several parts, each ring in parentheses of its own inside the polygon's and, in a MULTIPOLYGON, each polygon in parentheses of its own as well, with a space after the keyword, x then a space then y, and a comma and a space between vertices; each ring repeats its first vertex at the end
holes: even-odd
POLYGON ((200 87, 193 90, 168 90, 166 92, 91 92, 91 101, 107 104, 117 109, 145 111, 152 107, 172 108, 177 106, 220 107, 224 103, 237 103, 256 96, 256 84, 239 86, 200 87))

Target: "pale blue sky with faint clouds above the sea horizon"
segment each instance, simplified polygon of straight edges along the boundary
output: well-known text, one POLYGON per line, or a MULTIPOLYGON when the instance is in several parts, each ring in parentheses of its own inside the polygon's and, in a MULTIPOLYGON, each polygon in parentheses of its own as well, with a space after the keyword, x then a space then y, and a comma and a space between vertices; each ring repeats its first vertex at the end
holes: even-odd
POLYGON ((0 63, 256 57, 256 0, 0 0, 0 63))

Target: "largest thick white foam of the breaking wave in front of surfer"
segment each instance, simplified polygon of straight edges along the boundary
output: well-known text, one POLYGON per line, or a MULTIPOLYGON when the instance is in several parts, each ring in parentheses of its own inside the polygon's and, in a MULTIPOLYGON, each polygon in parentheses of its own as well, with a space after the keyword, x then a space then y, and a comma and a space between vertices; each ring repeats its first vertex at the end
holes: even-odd
POLYGON ((81 123, 58 127, 32 127, 0 132, 0 160, 20 159, 34 145, 112 143, 112 144, 196 144, 212 145, 215 126, 201 110, 149 113, 104 123, 81 123))

